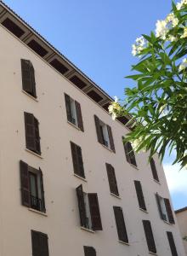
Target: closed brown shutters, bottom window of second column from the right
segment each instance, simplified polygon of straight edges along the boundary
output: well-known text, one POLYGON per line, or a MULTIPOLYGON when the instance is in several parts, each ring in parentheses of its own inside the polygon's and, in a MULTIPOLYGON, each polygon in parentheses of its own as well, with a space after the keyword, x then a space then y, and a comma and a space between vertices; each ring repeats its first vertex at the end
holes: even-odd
POLYGON ((147 241, 147 246, 149 249, 149 252, 156 253, 156 244, 153 236, 153 232, 151 229, 150 221, 149 220, 143 220, 144 225, 144 234, 147 241))

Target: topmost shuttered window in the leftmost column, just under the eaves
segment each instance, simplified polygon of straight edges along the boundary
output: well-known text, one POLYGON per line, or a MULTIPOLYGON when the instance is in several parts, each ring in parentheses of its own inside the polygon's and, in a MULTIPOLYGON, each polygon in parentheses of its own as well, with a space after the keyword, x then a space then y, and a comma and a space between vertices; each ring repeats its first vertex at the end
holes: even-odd
POLYGON ((35 73, 31 61, 21 60, 21 72, 23 90, 37 98, 35 73))

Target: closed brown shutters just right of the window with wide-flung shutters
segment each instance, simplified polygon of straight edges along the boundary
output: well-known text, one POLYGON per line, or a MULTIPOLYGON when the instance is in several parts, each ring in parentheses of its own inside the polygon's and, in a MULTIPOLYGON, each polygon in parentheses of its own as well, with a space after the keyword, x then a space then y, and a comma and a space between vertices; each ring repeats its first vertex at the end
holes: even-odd
POLYGON ((126 230, 125 221, 122 213, 122 208, 121 207, 113 207, 113 208, 114 208, 114 215, 116 219, 116 229, 117 229, 119 241, 124 241, 128 243, 127 230, 126 230))

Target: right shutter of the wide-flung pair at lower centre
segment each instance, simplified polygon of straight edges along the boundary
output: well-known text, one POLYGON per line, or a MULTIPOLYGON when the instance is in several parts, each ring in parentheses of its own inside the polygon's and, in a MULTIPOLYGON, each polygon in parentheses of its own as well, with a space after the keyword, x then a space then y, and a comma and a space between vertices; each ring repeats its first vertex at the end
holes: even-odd
POLYGON ((103 230, 100 218, 98 195, 94 193, 89 193, 88 201, 93 230, 103 230))

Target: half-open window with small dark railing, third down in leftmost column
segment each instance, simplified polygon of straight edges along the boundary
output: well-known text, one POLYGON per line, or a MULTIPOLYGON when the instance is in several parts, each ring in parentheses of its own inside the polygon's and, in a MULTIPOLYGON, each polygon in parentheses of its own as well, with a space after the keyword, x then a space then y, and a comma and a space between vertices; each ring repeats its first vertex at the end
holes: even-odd
POLYGON ((20 160, 21 201, 25 207, 46 212, 42 170, 28 166, 20 160))

